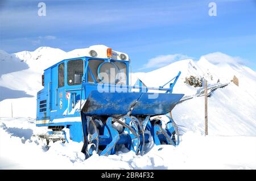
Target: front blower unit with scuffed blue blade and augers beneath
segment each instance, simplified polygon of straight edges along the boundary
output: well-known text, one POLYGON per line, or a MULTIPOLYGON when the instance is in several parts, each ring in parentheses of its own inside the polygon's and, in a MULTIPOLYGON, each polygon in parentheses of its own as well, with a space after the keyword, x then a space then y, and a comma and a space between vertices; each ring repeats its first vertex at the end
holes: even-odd
POLYGON ((179 145, 177 126, 166 113, 183 95, 159 93, 158 98, 150 99, 151 94, 92 91, 81 111, 84 132, 82 152, 86 157, 93 151, 99 155, 115 154, 118 145, 125 145, 135 154, 143 155, 150 137, 156 145, 179 145), (167 123, 162 117, 168 119, 167 123))

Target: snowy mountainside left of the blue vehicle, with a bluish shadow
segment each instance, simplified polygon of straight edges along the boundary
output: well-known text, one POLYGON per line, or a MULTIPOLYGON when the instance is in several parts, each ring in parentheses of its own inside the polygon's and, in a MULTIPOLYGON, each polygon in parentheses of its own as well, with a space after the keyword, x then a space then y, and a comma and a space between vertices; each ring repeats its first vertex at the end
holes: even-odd
POLYGON ((85 53, 88 48, 64 52, 58 48, 39 47, 32 52, 14 54, 0 50, 0 116, 11 116, 13 105, 13 116, 36 117, 36 92, 43 89, 41 76, 44 69, 65 58, 85 56, 85 53))

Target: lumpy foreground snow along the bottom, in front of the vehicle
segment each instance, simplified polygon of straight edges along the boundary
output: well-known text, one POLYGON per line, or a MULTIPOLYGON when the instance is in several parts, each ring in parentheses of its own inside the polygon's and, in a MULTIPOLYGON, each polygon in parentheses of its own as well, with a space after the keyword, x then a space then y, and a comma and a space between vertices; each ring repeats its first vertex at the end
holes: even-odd
POLYGON ((0 169, 256 169, 256 137, 187 132, 176 148, 160 145, 143 156, 129 151, 85 159, 82 143, 55 142, 45 149, 32 136, 44 131, 34 120, 0 119, 0 169))

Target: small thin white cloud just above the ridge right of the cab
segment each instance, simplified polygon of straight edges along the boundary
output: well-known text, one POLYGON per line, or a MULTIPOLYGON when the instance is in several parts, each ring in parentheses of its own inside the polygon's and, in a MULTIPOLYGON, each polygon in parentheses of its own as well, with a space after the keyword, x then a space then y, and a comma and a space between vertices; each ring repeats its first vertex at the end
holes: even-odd
POLYGON ((167 55, 160 55, 154 58, 150 58, 148 60, 147 64, 144 64, 143 68, 139 69, 148 69, 148 68, 161 68, 163 66, 166 66, 168 64, 171 64, 175 61, 184 60, 192 58, 183 54, 167 54, 167 55))

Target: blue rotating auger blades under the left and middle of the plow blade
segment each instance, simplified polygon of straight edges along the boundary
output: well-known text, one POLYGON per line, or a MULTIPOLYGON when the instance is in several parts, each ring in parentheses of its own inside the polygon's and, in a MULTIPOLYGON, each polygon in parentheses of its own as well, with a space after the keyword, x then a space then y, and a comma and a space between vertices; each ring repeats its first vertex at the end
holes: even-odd
POLYGON ((144 144, 148 142, 149 135, 144 134, 142 125, 134 116, 122 117, 122 120, 108 117, 104 124, 97 124, 99 119, 86 116, 85 141, 82 152, 86 158, 90 157, 95 151, 99 155, 115 154, 117 145, 125 145, 128 150, 134 151, 135 154, 143 154, 144 144), (116 125, 122 127, 118 130, 116 125))

